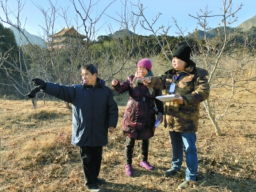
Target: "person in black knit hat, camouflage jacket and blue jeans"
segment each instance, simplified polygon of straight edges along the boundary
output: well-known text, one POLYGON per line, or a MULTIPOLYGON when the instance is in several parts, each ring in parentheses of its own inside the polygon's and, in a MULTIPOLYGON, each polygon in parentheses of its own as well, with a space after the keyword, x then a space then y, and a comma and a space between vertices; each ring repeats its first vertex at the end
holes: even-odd
POLYGON ((180 45, 172 55, 173 68, 159 77, 144 78, 146 86, 161 88, 166 95, 177 95, 177 99, 164 104, 164 127, 169 128, 172 140, 172 168, 165 175, 175 175, 180 171, 183 159, 183 148, 186 154, 186 180, 178 188, 189 186, 189 181, 196 181, 198 168, 196 134, 198 131, 200 102, 209 97, 210 86, 208 72, 196 67, 190 60, 191 48, 180 45), (174 88, 173 88, 174 87, 174 88))

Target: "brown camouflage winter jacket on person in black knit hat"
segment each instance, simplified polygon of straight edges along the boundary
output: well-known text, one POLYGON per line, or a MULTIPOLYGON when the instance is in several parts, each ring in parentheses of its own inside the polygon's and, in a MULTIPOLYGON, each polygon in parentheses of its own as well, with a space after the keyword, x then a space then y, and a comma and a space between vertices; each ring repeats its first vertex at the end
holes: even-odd
MULTIPOLYGON (((161 88, 169 95, 170 84, 175 76, 175 69, 172 68, 162 76, 152 77, 148 86, 161 88)), ((166 102, 164 105, 164 127, 170 131, 196 132, 198 130, 199 105, 209 97, 210 86, 208 83, 208 72, 196 67, 190 60, 182 75, 174 82, 175 95, 181 96, 184 104, 177 102, 166 102)))

